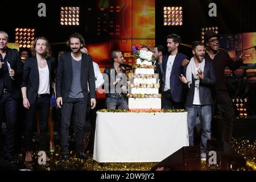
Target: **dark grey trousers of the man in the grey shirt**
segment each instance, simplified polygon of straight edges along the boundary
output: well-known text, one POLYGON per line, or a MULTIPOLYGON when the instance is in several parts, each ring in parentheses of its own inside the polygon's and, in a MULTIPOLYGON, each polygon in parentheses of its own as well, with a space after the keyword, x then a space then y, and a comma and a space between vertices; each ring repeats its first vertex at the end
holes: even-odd
POLYGON ((69 125, 72 117, 72 110, 74 107, 75 114, 75 140, 77 152, 82 152, 82 141, 84 140, 85 134, 85 117, 86 117, 86 106, 84 98, 70 98, 63 103, 61 107, 61 123, 60 123, 60 143, 63 147, 63 153, 68 153, 68 136, 69 136, 69 125))

